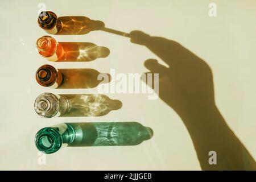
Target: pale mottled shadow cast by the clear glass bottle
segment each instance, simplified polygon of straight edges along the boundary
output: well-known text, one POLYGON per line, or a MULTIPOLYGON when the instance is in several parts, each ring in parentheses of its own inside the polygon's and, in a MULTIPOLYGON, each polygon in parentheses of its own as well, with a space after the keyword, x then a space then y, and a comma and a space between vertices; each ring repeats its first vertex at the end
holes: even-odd
POLYGON ((60 117, 99 117, 122 107, 122 102, 104 94, 60 94, 67 99, 69 110, 60 117))

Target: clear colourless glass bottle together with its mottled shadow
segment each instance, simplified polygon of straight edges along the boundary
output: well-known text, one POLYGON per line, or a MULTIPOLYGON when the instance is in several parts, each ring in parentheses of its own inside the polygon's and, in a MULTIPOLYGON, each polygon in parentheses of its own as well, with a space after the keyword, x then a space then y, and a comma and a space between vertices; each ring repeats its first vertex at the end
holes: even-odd
POLYGON ((35 111, 44 118, 96 117, 122 107, 122 102, 104 94, 43 93, 35 100, 35 111))

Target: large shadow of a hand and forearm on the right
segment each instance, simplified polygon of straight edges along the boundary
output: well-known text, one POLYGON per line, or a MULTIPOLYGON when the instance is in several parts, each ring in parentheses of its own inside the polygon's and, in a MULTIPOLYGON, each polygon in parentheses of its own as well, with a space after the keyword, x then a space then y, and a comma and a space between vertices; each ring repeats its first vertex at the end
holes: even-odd
POLYGON ((217 109, 209 65, 173 40, 150 36, 141 31, 131 32, 130 38, 132 43, 146 46, 168 64, 167 68, 153 59, 144 63, 151 73, 159 73, 159 97, 183 120, 201 168, 256 169, 253 157, 229 129, 217 109), (216 165, 210 158, 210 151, 216 152, 216 165))

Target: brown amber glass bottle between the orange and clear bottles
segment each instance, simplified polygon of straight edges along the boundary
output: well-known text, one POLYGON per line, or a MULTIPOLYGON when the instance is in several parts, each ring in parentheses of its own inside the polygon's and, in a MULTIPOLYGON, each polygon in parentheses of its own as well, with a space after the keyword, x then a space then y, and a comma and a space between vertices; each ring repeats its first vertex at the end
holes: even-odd
POLYGON ((60 71, 51 65, 45 64, 36 71, 36 81, 42 86, 57 88, 62 84, 63 76, 60 71))

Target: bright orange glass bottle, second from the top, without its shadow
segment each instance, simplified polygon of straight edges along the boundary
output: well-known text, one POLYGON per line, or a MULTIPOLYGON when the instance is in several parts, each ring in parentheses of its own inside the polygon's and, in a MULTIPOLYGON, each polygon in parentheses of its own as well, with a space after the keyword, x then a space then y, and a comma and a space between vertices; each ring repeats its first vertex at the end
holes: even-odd
POLYGON ((39 38, 36 41, 36 49, 48 61, 57 61, 64 53, 61 45, 51 36, 42 36, 39 38))

